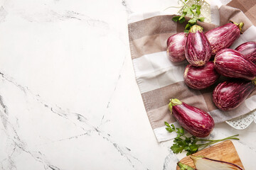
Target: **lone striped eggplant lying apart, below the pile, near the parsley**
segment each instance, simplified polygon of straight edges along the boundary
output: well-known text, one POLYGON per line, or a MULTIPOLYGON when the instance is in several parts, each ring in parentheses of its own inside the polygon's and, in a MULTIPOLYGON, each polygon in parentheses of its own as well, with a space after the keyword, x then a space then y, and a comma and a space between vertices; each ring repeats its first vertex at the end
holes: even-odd
POLYGON ((207 137, 214 128, 213 118, 206 111, 172 98, 169 110, 177 122, 196 137, 207 137))

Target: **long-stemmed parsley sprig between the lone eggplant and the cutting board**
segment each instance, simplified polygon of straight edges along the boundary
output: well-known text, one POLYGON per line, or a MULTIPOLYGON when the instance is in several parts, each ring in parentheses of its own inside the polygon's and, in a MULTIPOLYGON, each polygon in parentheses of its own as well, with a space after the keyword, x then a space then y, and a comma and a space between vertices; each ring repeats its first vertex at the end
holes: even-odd
POLYGON ((237 137, 238 135, 225 137, 221 140, 206 140, 195 136, 187 137, 182 127, 176 128, 174 124, 169 125, 169 123, 166 122, 164 122, 164 124, 166 125, 166 130, 168 132, 177 133, 177 137, 174 138, 174 145, 171 146, 171 150, 174 152, 174 154, 181 153, 183 150, 185 150, 187 152, 186 155, 190 155, 198 152, 199 149, 204 149, 205 147, 213 145, 217 142, 224 140, 239 140, 237 137), (197 142, 201 143, 197 144, 197 142))

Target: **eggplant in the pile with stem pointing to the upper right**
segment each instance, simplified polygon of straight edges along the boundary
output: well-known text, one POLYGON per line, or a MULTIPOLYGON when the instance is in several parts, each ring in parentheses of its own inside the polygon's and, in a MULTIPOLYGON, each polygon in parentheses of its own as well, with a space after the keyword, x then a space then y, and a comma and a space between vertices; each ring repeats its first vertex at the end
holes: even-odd
POLYGON ((240 37, 243 23, 227 23, 224 26, 208 30, 206 37, 210 42, 212 55, 220 50, 230 47, 240 37))

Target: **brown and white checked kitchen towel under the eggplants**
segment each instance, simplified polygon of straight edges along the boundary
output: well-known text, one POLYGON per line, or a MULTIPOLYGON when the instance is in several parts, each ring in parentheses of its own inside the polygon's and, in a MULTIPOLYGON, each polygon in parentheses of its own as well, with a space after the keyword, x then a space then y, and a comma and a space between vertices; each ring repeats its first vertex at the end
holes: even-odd
MULTIPOLYGON (((227 5, 218 6, 218 21, 223 26, 229 21, 243 22, 243 34, 232 48, 243 42, 256 40, 256 1, 233 0, 227 5), (238 9, 240 8, 240 9, 238 9)), ((215 123, 236 118, 255 111, 256 91, 234 111, 223 112, 215 107, 212 101, 213 87, 205 90, 189 89, 183 82, 183 72, 188 62, 170 62, 166 55, 166 40, 175 33, 182 32, 186 23, 171 20, 175 15, 163 12, 132 15, 128 20, 129 45, 134 72, 139 86, 144 107, 159 142, 171 140, 175 134, 166 132, 164 122, 176 123, 170 114, 170 98, 178 98, 192 106, 210 113, 215 123)), ((204 31, 218 27, 213 23, 199 23, 204 31)))

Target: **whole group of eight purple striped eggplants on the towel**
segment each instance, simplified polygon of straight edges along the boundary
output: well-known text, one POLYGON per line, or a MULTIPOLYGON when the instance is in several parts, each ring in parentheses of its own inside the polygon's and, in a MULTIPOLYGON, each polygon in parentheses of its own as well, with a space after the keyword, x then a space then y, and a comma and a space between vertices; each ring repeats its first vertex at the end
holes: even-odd
MULTIPOLYGON (((230 22, 204 33, 201 26, 194 25, 188 34, 177 33, 167 41, 171 62, 189 63, 183 74, 185 84, 196 90, 215 86, 213 103, 222 111, 240 106, 256 88, 256 42, 245 42, 235 50, 229 48, 242 34, 242 26, 230 22), (216 84, 220 75, 228 80, 216 84)), ((196 137, 209 135, 214 127, 210 115, 198 108, 181 101, 170 102, 170 106, 178 123, 196 137), (197 120, 201 120, 200 127, 196 127, 197 120)))

